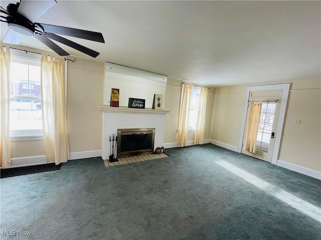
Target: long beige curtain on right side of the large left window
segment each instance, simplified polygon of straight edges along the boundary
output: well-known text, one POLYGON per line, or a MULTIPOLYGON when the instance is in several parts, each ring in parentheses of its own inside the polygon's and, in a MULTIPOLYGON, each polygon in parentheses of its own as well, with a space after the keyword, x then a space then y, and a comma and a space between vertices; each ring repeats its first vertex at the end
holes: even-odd
POLYGON ((47 162, 55 161, 58 165, 69 159, 65 60, 63 58, 42 55, 41 84, 47 162))

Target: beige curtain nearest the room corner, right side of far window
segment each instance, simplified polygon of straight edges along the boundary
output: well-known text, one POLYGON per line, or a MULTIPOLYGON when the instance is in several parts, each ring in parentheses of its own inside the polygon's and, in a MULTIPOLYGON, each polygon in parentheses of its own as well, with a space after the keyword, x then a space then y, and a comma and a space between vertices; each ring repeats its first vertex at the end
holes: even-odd
POLYGON ((195 137, 194 137, 195 144, 203 144, 203 140, 204 140, 207 92, 208 92, 207 87, 201 88, 199 113, 197 116, 197 124, 196 124, 195 137))

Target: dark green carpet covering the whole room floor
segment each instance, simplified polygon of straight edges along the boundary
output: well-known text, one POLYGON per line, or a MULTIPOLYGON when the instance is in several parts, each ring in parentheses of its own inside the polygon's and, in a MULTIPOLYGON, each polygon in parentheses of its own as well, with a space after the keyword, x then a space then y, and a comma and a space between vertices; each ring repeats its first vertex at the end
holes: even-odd
POLYGON ((319 221, 218 162, 318 207, 316 214, 320 180, 212 144, 165 152, 112 167, 71 160, 59 171, 1 179, 1 239, 321 239, 319 221))

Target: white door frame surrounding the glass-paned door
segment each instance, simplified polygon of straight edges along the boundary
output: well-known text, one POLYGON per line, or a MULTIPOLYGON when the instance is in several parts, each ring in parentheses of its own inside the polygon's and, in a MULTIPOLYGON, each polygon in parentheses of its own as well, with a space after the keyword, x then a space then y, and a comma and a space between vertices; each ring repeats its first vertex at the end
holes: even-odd
POLYGON ((262 90, 278 90, 283 89, 282 98, 281 100, 281 107, 280 107, 280 115, 277 122, 277 131, 275 134, 275 142, 274 142, 274 149, 272 152, 272 164, 276 165, 277 156, 279 152, 279 147, 281 143, 281 136, 282 136, 282 130, 283 130, 283 122, 284 122, 284 116, 285 116, 285 110, 286 110, 286 104, 287 104, 287 98, 288 93, 290 89, 290 83, 284 83, 284 84, 273 84, 273 85, 261 85, 261 86, 247 86, 246 87, 246 94, 245 94, 245 100, 244 100, 244 107, 243 107, 243 116, 242 116, 242 124, 241 124, 241 132, 240 132, 240 138, 239 138, 239 145, 237 148, 237 151, 241 153, 242 150, 242 144, 243 144, 243 138, 244 138, 244 132, 245 132, 245 123, 246 123, 246 115, 247 115, 247 109, 248 109, 248 99, 250 97, 251 91, 262 91, 262 90))

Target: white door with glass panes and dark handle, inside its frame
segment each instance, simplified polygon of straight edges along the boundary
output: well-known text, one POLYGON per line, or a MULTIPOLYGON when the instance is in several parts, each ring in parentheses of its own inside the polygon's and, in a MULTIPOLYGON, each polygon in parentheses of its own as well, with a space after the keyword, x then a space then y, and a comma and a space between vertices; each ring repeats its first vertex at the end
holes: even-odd
MULTIPOLYGON (((255 100, 255 99, 251 99, 255 100)), ((258 99, 257 99, 258 100, 258 99)), ((280 113, 280 100, 267 100, 262 101, 262 109, 260 114, 260 123, 258 126, 258 134, 256 138, 256 151, 255 153, 246 151, 242 147, 242 153, 249 156, 259 158, 264 161, 271 162, 272 153, 274 149, 275 136, 277 131, 277 123, 280 113)), ((245 146, 245 140, 247 136, 248 129, 248 116, 249 116, 249 106, 247 110, 246 124, 245 124, 245 134, 243 137, 243 146, 245 146)))

